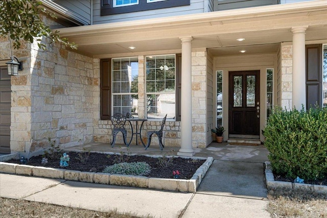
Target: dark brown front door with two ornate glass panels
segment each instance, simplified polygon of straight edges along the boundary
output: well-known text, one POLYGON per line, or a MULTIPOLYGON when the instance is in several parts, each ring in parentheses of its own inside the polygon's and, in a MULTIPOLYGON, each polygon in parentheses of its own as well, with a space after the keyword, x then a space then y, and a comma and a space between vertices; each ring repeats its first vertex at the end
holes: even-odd
POLYGON ((229 72, 229 137, 259 138, 260 70, 229 72))

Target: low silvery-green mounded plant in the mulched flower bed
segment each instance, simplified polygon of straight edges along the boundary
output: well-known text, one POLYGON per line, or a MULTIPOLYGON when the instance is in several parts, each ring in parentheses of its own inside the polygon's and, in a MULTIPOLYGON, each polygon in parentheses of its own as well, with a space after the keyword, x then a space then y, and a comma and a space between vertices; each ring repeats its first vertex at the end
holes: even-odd
POLYGON ((109 174, 124 174, 134 176, 145 176, 150 174, 151 167, 146 162, 132 162, 132 163, 115 163, 107 166, 102 173, 109 174))

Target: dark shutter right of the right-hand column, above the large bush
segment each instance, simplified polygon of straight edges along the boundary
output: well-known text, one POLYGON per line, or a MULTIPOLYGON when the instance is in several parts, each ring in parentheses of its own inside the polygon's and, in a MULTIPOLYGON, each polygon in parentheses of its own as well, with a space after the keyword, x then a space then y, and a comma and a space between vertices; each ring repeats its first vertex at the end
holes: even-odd
MULTIPOLYGON (((306 45, 307 110, 322 100, 322 45, 306 45)), ((294 72, 293 72, 294 73, 294 72)))

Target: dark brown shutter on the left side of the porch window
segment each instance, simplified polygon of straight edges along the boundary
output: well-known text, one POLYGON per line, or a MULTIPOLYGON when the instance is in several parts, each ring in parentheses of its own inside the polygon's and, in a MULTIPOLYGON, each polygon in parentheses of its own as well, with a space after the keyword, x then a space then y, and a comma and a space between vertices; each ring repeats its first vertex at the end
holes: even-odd
POLYGON ((110 119, 111 59, 100 60, 100 119, 110 119))

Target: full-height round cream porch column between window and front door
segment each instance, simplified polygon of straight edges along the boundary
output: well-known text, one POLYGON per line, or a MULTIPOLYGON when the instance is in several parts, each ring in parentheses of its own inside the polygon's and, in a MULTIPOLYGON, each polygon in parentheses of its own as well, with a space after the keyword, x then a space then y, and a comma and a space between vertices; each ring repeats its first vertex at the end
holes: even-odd
POLYGON ((193 156, 192 149, 192 37, 180 37, 182 41, 181 74, 181 147, 177 155, 193 156))

